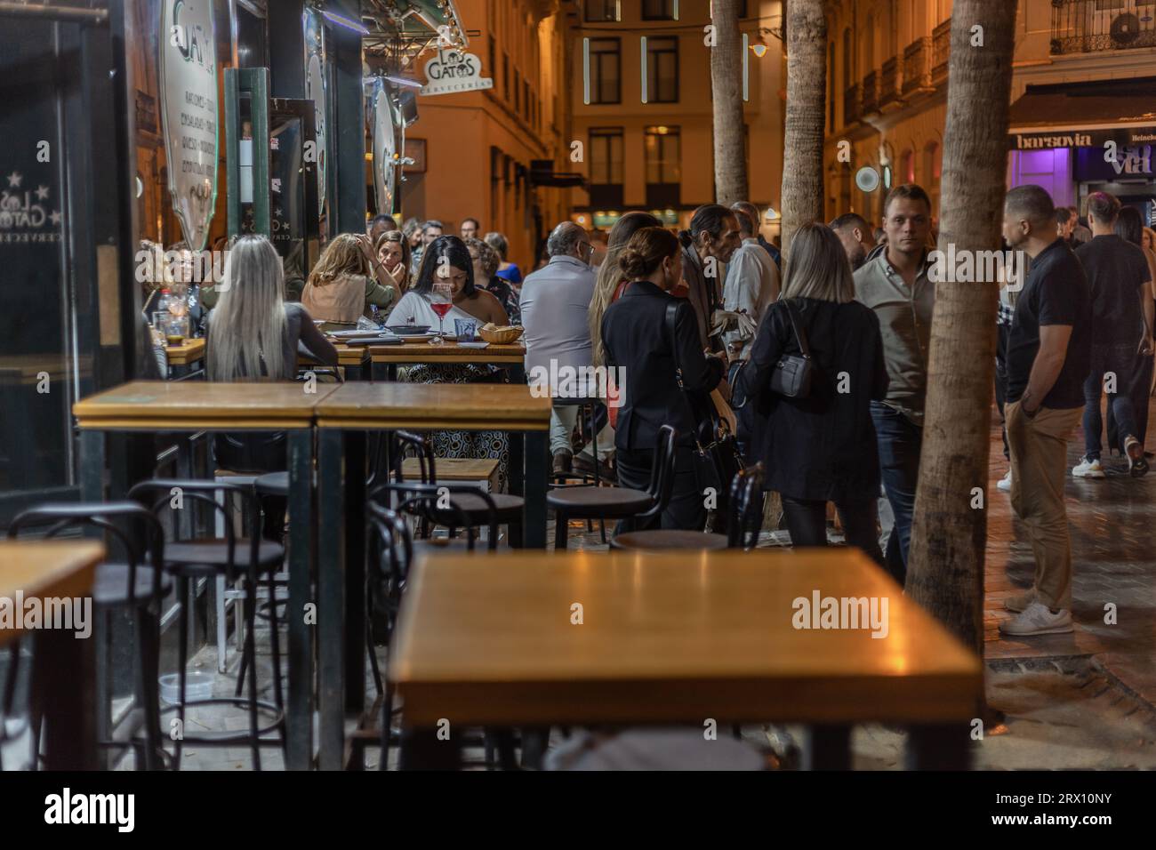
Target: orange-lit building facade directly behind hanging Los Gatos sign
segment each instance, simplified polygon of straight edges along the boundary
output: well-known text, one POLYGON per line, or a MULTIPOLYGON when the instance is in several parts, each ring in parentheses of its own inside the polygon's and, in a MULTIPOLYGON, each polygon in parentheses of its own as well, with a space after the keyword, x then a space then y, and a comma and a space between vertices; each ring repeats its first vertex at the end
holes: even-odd
MULTIPOLYGON (((401 217, 440 221, 457 234, 466 217, 481 232, 504 234, 509 259, 533 268, 541 241, 566 217, 569 40, 561 0, 457 0, 492 88, 417 97, 417 121, 406 132, 401 217), (476 35, 475 35, 476 34, 476 35)), ((436 59, 436 53, 433 54, 436 59)), ((423 56, 420 66, 430 60, 423 56)), ((412 76, 425 83, 424 67, 412 76)))

